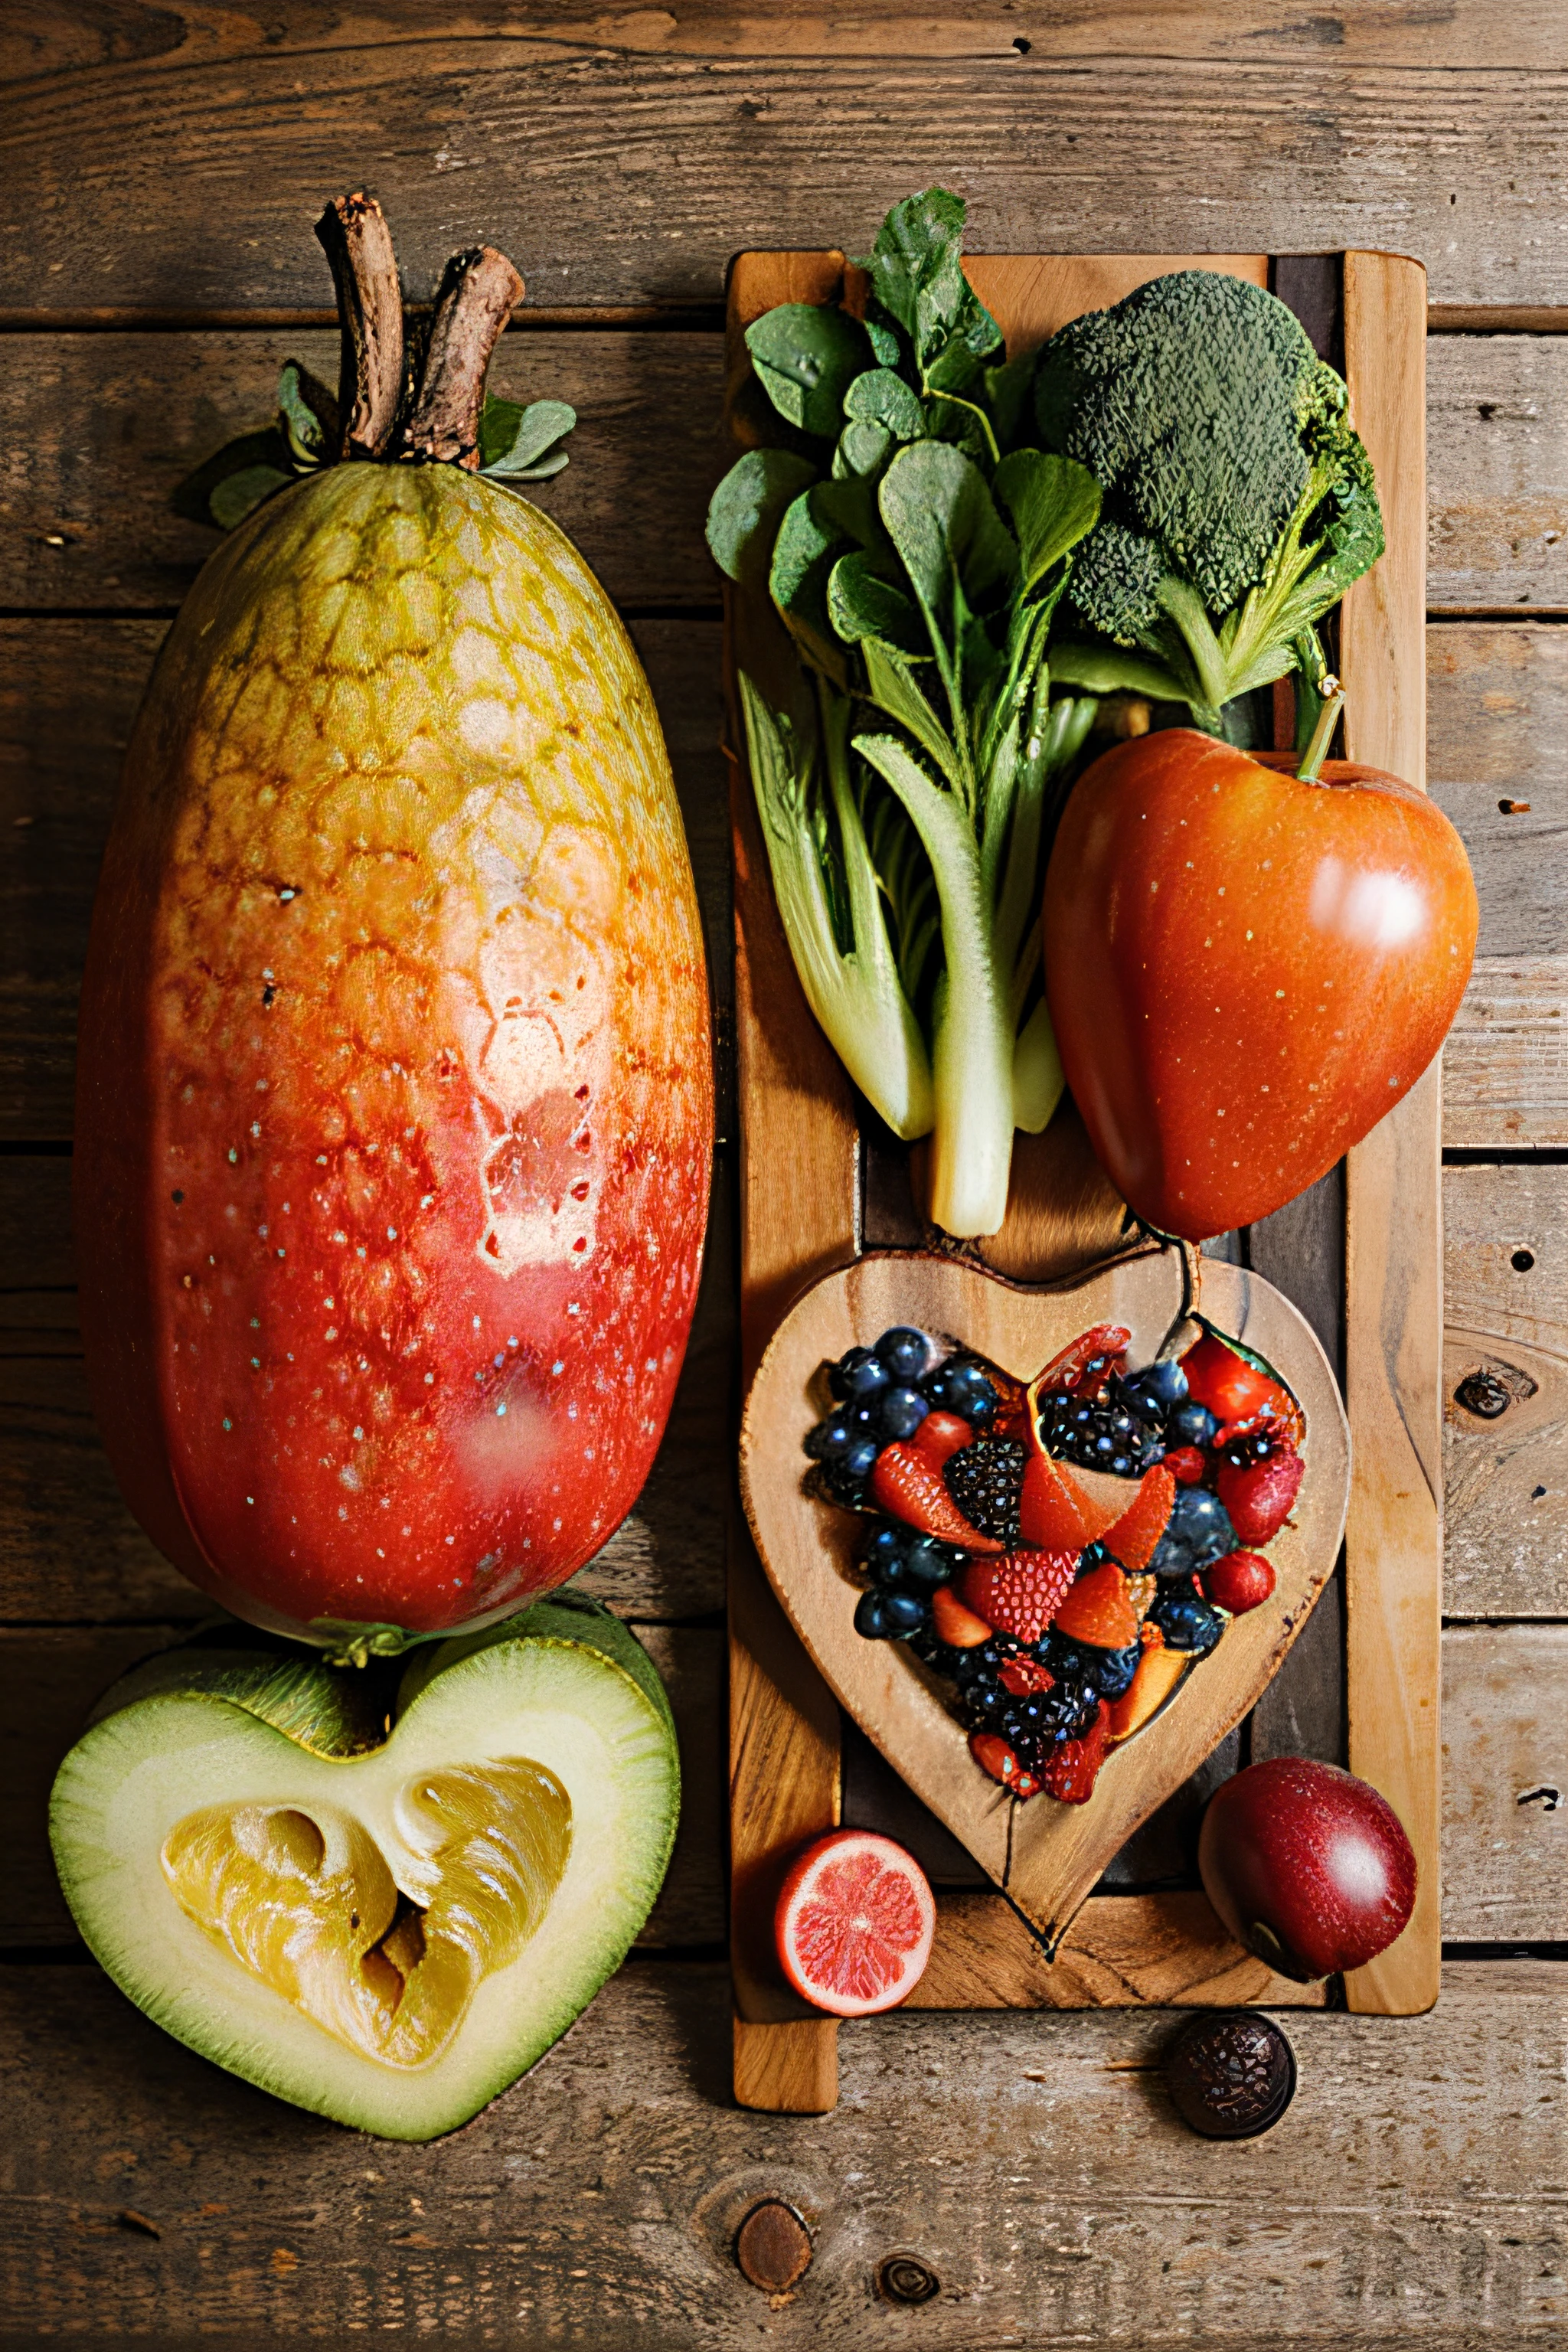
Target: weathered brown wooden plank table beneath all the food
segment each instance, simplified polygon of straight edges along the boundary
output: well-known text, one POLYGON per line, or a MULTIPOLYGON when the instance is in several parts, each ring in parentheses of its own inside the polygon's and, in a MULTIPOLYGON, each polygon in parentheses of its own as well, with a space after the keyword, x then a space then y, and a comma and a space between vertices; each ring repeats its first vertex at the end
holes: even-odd
MULTIPOLYGON (((0 259, 0 2338, 160 2345, 1568 2343, 1568 52, 1561 0, 40 0, 7 14, 0 259), (310 221, 369 181, 411 299, 491 238, 529 278, 494 383, 583 416, 545 503, 665 717, 729 1047, 717 588, 724 266, 863 247, 931 179, 990 252, 1425 259, 1429 779, 1481 889, 1446 1056, 1443 1994, 1293 2013, 1258 2143, 1185 2133, 1161 2011, 872 2020, 827 2117, 729 2093, 722 1717, 733 1110, 654 1479, 583 1581, 675 1698, 686 1823, 646 1936, 454 2138, 362 2140, 230 2082, 85 1959, 42 1799, 92 1698, 202 1609, 85 1404, 71 1056, 120 746, 209 539, 183 470, 327 360, 310 221), (1479 1421, 1479 1364, 1512 1402, 1479 1421), (792 2201, 792 2296, 733 2232, 792 2201), (886 2258, 940 2284, 886 2296, 886 2258), (879 2286, 879 2279, 884 2281, 879 2286)), ((1166 1839, 1180 1863, 1180 1823, 1166 1839)))

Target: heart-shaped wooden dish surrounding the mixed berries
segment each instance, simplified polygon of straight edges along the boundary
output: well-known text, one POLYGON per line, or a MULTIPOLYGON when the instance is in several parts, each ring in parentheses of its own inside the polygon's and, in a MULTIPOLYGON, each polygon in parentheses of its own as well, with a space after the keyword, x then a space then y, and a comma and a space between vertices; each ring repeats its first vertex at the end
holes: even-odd
MULTIPOLYGON (((809 1289, 778 1327, 745 1402, 741 1491, 766 1573, 839 1705, 959 1837, 1023 1912, 1051 1955, 1095 1879, 1140 1820, 1197 1771, 1267 1689, 1340 1552, 1349 1501, 1349 1428, 1312 1329, 1260 1275, 1204 1261, 1201 1310, 1288 1381, 1305 1416, 1302 1484, 1267 1545, 1269 1602, 1234 1618, 1220 1646, 1178 1684, 1168 1705, 1112 1748, 1088 1804, 1009 1797, 969 1755, 947 1710, 950 1684, 900 1642, 853 1628, 853 1555, 865 1519, 804 1491, 806 1430, 825 1411, 820 1367, 870 1348, 891 1324, 914 1324, 1032 1381, 1098 1322, 1126 1324, 1128 1359, 1147 1364, 1182 1312, 1175 1249, 1140 1247, 1051 1289, 1023 1289, 954 1258, 886 1251, 809 1289)), ((1131 1498, 1135 1489, 1128 1484, 1131 1498)))

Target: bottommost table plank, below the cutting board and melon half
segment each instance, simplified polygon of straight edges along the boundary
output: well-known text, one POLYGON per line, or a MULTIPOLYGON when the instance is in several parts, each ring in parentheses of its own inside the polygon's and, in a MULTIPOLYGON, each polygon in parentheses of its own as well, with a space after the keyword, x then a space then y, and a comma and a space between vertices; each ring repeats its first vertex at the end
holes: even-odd
POLYGON ((719 1966, 632 1962, 487 2114, 397 2147, 219 2074, 94 1971, 7 1969, 5 2307, 240 2352, 1561 2345, 1561 1966, 1450 1966, 1418 2020, 1291 2013, 1295 2103, 1244 2147, 1175 2119, 1164 2011, 875 2018, 811 2122, 729 2107, 726 1997, 719 1966), (816 2239, 778 2310, 733 2263, 762 2197, 816 2239), (914 2317, 875 2298, 898 2249, 940 2281, 914 2317))

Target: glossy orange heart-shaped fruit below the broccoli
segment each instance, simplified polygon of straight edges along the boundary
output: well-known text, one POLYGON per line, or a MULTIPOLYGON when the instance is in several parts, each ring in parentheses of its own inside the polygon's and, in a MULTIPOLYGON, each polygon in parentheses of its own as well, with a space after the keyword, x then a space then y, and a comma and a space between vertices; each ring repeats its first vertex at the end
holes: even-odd
POLYGON ((1185 727, 1079 779, 1046 873, 1046 997, 1126 1202, 1204 1240, 1305 1192, 1410 1091, 1465 995, 1476 887, 1425 793, 1300 783, 1185 727))

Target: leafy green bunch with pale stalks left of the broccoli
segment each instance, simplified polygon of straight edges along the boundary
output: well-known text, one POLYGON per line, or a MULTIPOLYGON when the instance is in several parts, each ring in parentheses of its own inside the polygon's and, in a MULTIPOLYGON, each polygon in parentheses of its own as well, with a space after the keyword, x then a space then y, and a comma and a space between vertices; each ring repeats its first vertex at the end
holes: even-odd
POLYGON ((1046 640, 1100 492, 1011 447, 1027 386, 994 365, 961 228, 959 198, 912 198, 865 261, 865 325, 788 303, 750 327, 795 433, 719 482, 708 543, 799 666, 766 694, 743 675, 741 710, 806 1000, 889 1127, 933 1131, 931 1214, 976 1235, 1006 1211, 1013 1129, 1063 1091, 1039 901, 1095 703, 1051 703, 1046 640))

